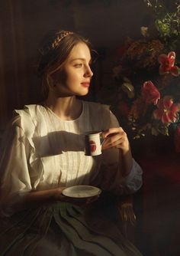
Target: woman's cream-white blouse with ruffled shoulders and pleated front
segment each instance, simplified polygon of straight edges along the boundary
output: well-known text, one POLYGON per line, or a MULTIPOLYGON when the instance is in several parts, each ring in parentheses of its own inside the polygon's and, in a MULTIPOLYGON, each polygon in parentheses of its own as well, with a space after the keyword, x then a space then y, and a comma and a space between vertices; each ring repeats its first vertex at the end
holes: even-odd
MULTIPOLYGON (((24 192, 57 186, 99 185, 114 192, 135 192, 142 185, 142 169, 133 160, 122 179, 119 150, 85 156, 83 134, 119 126, 109 107, 82 102, 76 120, 61 120, 47 107, 27 105, 15 110, 0 152, 1 198, 11 205, 24 192)), ((7 211, 8 212, 8 211, 7 211)))

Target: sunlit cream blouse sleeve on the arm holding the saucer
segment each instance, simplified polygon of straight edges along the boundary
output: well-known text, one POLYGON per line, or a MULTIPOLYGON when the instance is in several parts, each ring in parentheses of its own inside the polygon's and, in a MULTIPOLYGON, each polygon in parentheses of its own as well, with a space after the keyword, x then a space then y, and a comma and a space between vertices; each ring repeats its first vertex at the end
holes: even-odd
POLYGON ((14 117, 3 136, 0 154, 1 215, 12 215, 13 205, 32 189, 27 161, 30 150, 21 128, 21 117, 14 117))

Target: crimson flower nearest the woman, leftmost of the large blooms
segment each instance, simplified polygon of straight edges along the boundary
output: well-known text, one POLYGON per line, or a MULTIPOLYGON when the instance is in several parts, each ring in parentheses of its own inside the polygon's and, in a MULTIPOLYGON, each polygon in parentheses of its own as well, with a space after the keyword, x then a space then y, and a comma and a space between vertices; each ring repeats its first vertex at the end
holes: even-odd
POLYGON ((148 104, 153 103, 154 105, 156 105, 158 100, 160 99, 159 90, 157 90, 157 88, 151 81, 146 81, 143 84, 142 96, 148 104))

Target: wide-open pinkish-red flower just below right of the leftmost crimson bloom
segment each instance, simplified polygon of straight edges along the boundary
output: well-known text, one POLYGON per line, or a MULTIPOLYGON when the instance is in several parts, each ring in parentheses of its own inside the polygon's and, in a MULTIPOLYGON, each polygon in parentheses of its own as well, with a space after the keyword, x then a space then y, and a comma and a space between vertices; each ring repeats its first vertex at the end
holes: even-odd
POLYGON ((153 116, 156 119, 162 120, 162 123, 175 123, 178 119, 180 104, 173 103, 173 98, 171 96, 167 95, 162 100, 159 100, 157 107, 158 109, 154 110, 153 116))

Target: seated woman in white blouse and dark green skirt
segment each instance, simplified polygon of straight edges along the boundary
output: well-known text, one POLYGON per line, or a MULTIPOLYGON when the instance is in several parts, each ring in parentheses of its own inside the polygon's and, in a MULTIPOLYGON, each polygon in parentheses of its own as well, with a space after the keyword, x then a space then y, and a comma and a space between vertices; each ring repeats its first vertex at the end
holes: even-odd
POLYGON ((62 194, 71 185, 95 185, 113 195, 142 185, 127 134, 108 106, 77 97, 88 94, 93 75, 90 44, 79 34, 58 31, 41 55, 46 100, 15 110, 4 137, 1 255, 141 255, 116 225, 114 237, 109 227, 93 222, 93 229, 92 200, 62 194), (83 134, 91 130, 103 131, 101 156, 85 156, 83 134))

